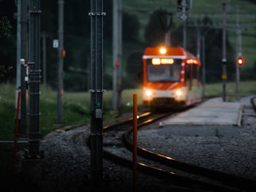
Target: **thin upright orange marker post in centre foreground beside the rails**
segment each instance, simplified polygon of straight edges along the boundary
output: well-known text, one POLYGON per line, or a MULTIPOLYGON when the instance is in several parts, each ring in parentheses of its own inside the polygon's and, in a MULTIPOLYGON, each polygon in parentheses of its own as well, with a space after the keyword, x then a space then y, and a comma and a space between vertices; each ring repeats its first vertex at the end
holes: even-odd
POLYGON ((137 192, 137 109, 138 94, 133 94, 133 191, 137 192))

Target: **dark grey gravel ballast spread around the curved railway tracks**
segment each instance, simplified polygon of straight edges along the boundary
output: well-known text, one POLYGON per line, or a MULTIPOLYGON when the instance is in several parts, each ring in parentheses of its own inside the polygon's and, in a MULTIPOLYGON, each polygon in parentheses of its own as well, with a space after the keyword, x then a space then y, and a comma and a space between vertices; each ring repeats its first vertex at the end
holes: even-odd
MULTIPOLYGON (((246 96, 242 123, 238 134, 231 136, 178 136, 161 134, 159 122, 138 131, 138 145, 155 153, 167 155, 190 164, 256 180, 256 116, 246 96)), ((177 127, 178 128, 178 127, 177 127)), ((41 150, 45 157, 39 166, 38 177, 32 176, 37 191, 91 191, 89 188, 91 155, 86 140, 88 126, 60 131, 44 140, 41 150)), ((118 150, 110 146, 110 150, 118 150)), ((124 148, 118 154, 129 155, 124 148)), ((141 163, 146 160, 139 158, 141 163)), ((132 170, 103 160, 104 187, 102 191, 132 191, 132 170)), ((20 169, 23 169, 21 166, 20 169)), ((167 171, 172 171, 170 168, 167 171)), ((33 174, 34 172, 32 172, 33 174)), ((99 188, 100 189, 100 188, 99 188)), ((138 191, 171 191, 170 182, 138 172, 138 191)))

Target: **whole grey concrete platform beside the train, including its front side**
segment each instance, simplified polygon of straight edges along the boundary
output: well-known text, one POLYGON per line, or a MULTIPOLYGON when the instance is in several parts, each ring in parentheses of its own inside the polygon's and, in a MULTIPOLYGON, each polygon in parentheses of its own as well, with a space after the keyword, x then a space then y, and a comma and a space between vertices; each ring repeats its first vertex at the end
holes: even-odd
POLYGON ((243 104, 210 99, 159 123, 158 134, 195 137, 233 137, 239 133, 243 104))

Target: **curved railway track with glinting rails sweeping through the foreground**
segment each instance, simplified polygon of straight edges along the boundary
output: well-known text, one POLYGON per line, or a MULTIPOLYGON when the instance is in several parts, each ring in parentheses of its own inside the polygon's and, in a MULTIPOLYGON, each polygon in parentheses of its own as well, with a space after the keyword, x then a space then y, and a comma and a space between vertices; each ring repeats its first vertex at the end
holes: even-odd
MULTIPOLYGON (((145 126, 148 123, 152 123, 155 120, 159 120, 161 118, 165 118, 173 113, 163 113, 156 114, 152 112, 147 112, 143 115, 140 115, 138 118, 138 127, 145 126)), ((114 124, 112 126, 105 126, 104 131, 123 131, 122 134, 118 134, 119 139, 122 135, 122 141, 124 146, 126 146, 129 150, 132 149, 132 142, 129 140, 129 134, 131 134, 132 128, 127 130, 127 126, 132 125, 132 119, 124 120, 123 122, 114 124)), ((121 145, 117 143, 105 144, 108 145, 121 145)), ((180 174, 176 174, 174 172, 163 171, 162 169, 158 169, 157 167, 148 166, 146 164, 138 163, 138 169, 141 172, 146 174, 151 174, 152 176, 161 177, 164 180, 170 181, 173 185, 177 186, 177 191, 255 191, 255 187, 253 183, 254 180, 249 180, 244 177, 238 177, 233 174, 227 174, 224 172, 219 172, 213 169, 206 169, 200 166, 195 166, 192 164, 187 164, 182 161, 178 161, 176 159, 166 157, 164 155, 160 155, 157 153, 153 153, 149 150, 143 149, 142 147, 138 147, 138 154, 142 155, 144 158, 148 158, 151 161, 157 161, 160 164, 165 164, 167 166, 172 167, 173 169, 179 169, 184 172, 190 172, 192 174, 203 175, 203 177, 208 177, 211 180, 217 180, 221 184, 208 183, 200 180, 191 179, 189 177, 182 176, 180 174), (195 189, 196 186, 200 186, 195 189)), ((122 158, 121 156, 110 153, 108 150, 104 150, 104 158, 115 162, 116 164, 120 164, 122 166, 127 166, 132 168, 132 161, 127 160, 126 158, 122 158)))

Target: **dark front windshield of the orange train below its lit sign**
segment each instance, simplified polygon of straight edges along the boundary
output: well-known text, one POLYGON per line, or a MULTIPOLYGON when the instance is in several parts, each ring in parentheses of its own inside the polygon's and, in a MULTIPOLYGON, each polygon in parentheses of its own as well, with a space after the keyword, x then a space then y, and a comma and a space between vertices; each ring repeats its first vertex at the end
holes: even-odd
POLYGON ((152 64, 147 61, 148 82, 177 82, 181 80, 181 59, 173 59, 173 64, 152 64))

